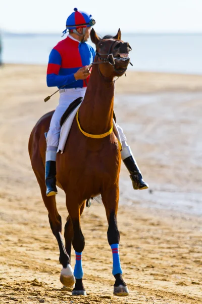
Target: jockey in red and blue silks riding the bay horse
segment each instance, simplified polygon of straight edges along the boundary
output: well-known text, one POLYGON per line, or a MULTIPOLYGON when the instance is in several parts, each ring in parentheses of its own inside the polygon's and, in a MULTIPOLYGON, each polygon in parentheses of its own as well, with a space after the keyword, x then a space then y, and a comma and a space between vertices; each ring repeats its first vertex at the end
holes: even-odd
MULTIPOLYGON (((95 20, 85 12, 74 12, 67 18, 66 29, 69 31, 66 39, 59 42, 51 51, 47 66, 46 82, 48 87, 58 87, 60 90, 59 105, 53 114, 46 137, 45 184, 46 196, 57 194, 56 187, 56 155, 60 137, 60 120, 71 102, 84 97, 90 73, 87 65, 93 62, 94 49, 86 43, 91 26, 95 20)), ((146 189, 148 185, 142 179, 141 172, 135 162, 130 147, 126 142, 123 130, 119 127, 123 150, 122 160, 130 172, 134 189, 146 189)))

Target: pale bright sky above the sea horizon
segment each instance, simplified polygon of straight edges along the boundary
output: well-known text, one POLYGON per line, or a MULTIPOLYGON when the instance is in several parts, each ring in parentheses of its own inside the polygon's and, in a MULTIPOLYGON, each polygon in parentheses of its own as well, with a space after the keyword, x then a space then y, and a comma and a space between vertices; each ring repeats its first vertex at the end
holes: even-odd
POLYGON ((97 32, 202 32, 202 0, 1 0, 0 28, 62 32, 75 7, 92 15, 97 32))

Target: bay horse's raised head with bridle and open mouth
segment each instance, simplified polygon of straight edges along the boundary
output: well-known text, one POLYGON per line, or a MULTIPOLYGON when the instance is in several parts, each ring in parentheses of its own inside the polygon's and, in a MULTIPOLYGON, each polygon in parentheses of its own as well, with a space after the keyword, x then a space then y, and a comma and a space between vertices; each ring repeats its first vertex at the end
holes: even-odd
POLYGON ((119 28, 116 36, 107 35, 100 39, 94 29, 90 32, 91 41, 96 46, 96 59, 100 72, 109 78, 122 76, 130 62, 129 52, 132 50, 127 42, 121 40, 119 28))

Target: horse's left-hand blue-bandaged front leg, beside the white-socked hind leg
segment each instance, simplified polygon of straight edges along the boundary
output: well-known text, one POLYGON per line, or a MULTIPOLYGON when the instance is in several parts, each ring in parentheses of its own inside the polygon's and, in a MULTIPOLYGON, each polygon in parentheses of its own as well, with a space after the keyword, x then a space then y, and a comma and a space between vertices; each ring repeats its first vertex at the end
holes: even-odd
MULTIPOLYGON (((83 286, 83 269, 82 269, 82 251, 85 246, 85 240, 84 236, 81 232, 81 226, 80 226, 80 215, 83 212, 85 201, 81 203, 77 203, 77 201, 74 199, 70 199, 70 197, 66 200, 67 209, 69 212, 69 216, 71 218, 72 222, 72 228, 73 228, 73 237, 72 237, 72 245, 75 250, 76 255, 76 264, 74 268, 74 276, 76 278, 75 287, 72 291, 73 295, 86 295, 85 288, 83 286), (74 204, 72 204, 72 201, 74 200, 74 204)), ((69 244, 70 245, 70 244, 69 244)))

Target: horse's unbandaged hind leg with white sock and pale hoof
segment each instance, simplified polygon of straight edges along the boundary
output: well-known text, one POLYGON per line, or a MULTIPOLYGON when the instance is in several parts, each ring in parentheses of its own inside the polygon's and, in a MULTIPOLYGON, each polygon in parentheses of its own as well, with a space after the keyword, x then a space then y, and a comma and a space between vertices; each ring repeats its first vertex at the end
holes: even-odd
POLYGON ((56 206, 56 196, 47 197, 46 196, 46 186, 45 186, 45 180, 44 175, 40 174, 38 175, 37 172, 35 172, 37 181, 39 183, 40 189, 41 189, 41 195, 43 202, 45 204, 45 207, 48 211, 48 218, 49 223, 51 225, 51 229, 53 234, 55 235, 59 250, 60 250, 60 258, 59 261, 63 265, 63 269, 61 271, 60 281, 65 286, 73 286, 75 283, 75 278, 73 275, 73 270, 70 265, 70 258, 69 255, 66 252, 65 246, 63 244, 62 240, 62 220, 61 216, 58 213, 57 206, 56 206))

